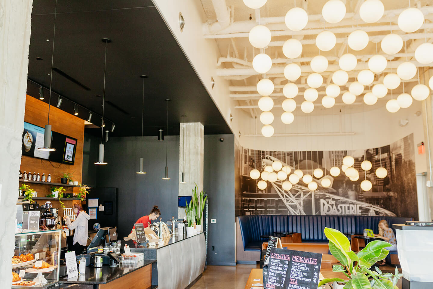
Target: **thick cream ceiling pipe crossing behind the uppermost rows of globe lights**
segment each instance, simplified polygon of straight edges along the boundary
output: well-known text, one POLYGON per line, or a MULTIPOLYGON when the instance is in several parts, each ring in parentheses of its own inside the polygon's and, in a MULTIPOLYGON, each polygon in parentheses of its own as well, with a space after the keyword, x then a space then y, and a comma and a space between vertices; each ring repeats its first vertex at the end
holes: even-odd
MULTIPOLYGON (((212 2, 215 2, 218 0, 213 0, 212 2)), ((221 2, 225 1, 221 0, 221 2)), ((405 10, 406 8, 402 8, 402 9, 394 9, 394 10, 386 10, 384 13, 384 16, 378 20, 378 22, 376 23, 396 23, 397 22, 397 18, 398 15, 400 15, 400 13, 405 10)), ((424 6, 421 7, 420 10, 423 12, 424 16, 426 19, 429 19, 433 14, 433 7, 431 6, 424 6)), ((362 26, 362 25, 369 25, 368 23, 364 23, 362 20, 357 21, 356 19, 352 19, 353 16, 355 16, 354 13, 346 13, 346 16, 344 17, 344 19, 342 21, 340 21, 339 23, 333 24, 333 27, 340 27, 340 26, 355 26, 358 25, 360 28, 362 29, 366 29, 370 26, 362 26)), ((266 25, 268 26, 269 29, 272 30, 287 30, 287 27, 284 24, 284 16, 279 16, 279 17, 261 17, 260 18, 260 23, 262 25, 266 25)), ((246 33, 246 36, 237 36, 237 37, 248 37, 248 32, 249 30, 252 29, 252 27, 254 27, 256 24, 255 21, 251 21, 251 20, 247 20, 247 21, 236 21, 234 22, 232 25, 229 25, 228 27, 226 27, 225 29, 220 30, 218 33, 218 35, 213 35, 217 32, 211 32, 210 31, 210 26, 211 24, 209 23, 204 23, 203 24, 203 34, 205 38, 226 38, 226 36, 221 37, 225 34, 235 34, 235 33, 246 33)), ((383 25, 385 26, 385 25, 383 25)), ((389 30, 389 25, 386 25, 388 27, 388 29, 384 29, 389 30)), ((397 25, 395 25, 397 26, 397 25)), ((378 31, 376 30, 376 27, 381 27, 381 26, 371 26, 374 27, 375 30, 374 31, 378 31)), ((349 29, 353 30, 353 27, 347 27, 349 29)), ((315 14, 315 15, 308 15, 308 23, 307 26, 305 27, 305 29, 302 29, 301 31, 298 32, 292 32, 290 31, 289 34, 286 35, 304 35, 304 31, 305 30, 315 30, 315 29, 320 29, 320 31, 323 30, 323 17, 322 14, 315 14)), ((383 29, 383 28, 381 28, 383 29)), ((352 30, 350 32, 352 32, 352 30)), ((393 30, 397 30, 394 29, 393 30)), ((320 32, 319 31, 319 32, 320 32)), ((316 33, 317 34, 317 33, 316 33)), ((228 37, 232 37, 232 36, 228 36, 228 37)))

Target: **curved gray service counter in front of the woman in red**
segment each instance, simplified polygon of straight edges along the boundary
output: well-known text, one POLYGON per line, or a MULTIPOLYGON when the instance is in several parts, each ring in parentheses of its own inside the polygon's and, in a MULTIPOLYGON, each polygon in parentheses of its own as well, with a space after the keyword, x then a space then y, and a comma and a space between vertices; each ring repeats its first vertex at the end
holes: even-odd
POLYGON ((152 276, 152 285, 160 289, 184 289, 199 279, 206 262, 204 233, 173 236, 149 248, 131 249, 142 252, 145 259, 156 259, 157 278, 152 276))

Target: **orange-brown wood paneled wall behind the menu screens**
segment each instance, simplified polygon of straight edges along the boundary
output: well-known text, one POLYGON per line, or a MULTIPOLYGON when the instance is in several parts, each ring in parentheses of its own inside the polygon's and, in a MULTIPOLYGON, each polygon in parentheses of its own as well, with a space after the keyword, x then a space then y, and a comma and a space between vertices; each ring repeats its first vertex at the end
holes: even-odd
MULTIPOLYGON (((24 121, 32 123, 39 127, 44 127, 47 124, 48 119, 48 104, 31 97, 26 96, 26 114, 24 115, 24 121)), ((74 165, 61 164, 58 162, 49 162, 45 159, 37 159, 29 156, 21 156, 21 172, 24 171, 45 173, 45 175, 51 174, 52 182, 60 182, 58 179, 62 172, 70 172, 73 175, 73 179, 81 183, 81 174, 83 171, 83 141, 84 141, 84 120, 75 117, 72 114, 58 109, 55 106, 50 108, 50 124, 52 126, 52 131, 63 133, 66 136, 74 137, 78 140, 77 148, 75 151, 75 162, 74 165)), ((63 149, 63 148, 62 148, 63 149)), ((18 172, 16 173, 18 176, 18 172)), ((36 184, 32 184, 36 187, 36 184)), ((39 187, 39 186, 38 186, 39 187)), ((47 185, 47 194, 49 192, 49 186, 47 185)), ((45 197, 44 195, 39 195, 38 197, 45 197)))

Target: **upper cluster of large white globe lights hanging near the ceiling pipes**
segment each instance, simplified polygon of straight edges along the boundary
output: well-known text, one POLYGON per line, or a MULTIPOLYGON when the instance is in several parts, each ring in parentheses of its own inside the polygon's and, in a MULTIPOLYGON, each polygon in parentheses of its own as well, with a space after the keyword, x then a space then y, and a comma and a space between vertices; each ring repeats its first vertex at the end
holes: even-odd
MULTIPOLYGON (((258 9, 265 5, 266 0, 243 0, 246 6, 252 9, 258 9)), ((359 9, 361 19, 365 23, 375 23, 382 18, 384 14, 384 5, 380 0, 365 0, 359 9)), ((346 6, 341 0, 329 0, 322 8, 322 16, 328 23, 338 23, 346 15, 346 6)), ((285 16, 285 24, 292 31, 300 31, 305 28, 308 22, 307 12, 301 7, 290 9, 285 16)), ((412 33, 421 28, 424 23, 423 13, 414 7, 407 8, 398 16, 398 27, 406 33, 412 33)), ((265 48, 271 42, 271 31, 264 25, 257 25, 249 32, 249 41, 255 48, 265 48)), ((352 50, 360 51, 368 45, 368 34, 362 29, 355 29, 348 36, 348 45, 352 50)), ((321 51, 330 51, 336 45, 336 36, 329 30, 320 32, 316 37, 316 45, 321 51)), ((388 55, 394 55, 403 48, 403 39, 396 33, 390 33, 381 40, 381 49, 388 55)), ((295 61, 302 54, 302 44, 295 38, 288 39, 282 47, 283 54, 295 61)), ((421 64, 430 64, 433 62, 433 44, 425 42, 415 49, 415 59, 421 64)), ((368 60, 368 69, 359 71, 356 81, 347 84, 349 80, 348 71, 352 71, 358 64, 358 59, 352 53, 343 54, 339 58, 339 70, 334 71, 332 75, 332 84, 326 87, 326 95, 322 97, 321 104, 323 107, 331 108, 335 105, 335 99, 341 93, 340 86, 346 85, 349 91, 345 91, 342 100, 345 104, 353 104, 356 97, 364 93, 365 86, 370 86, 375 74, 381 74, 387 68, 387 58, 383 55, 373 55, 368 60)), ((272 67, 271 57, 265 53, 259 53, 252 61, 252 67, 260 74, 265 74, 272 67)), ((310 67, 314 71, 307 77, 309 88, 304 91, 304 101, 301 103, 301 110, 309 114, 314 110, 314 101, 318 99, 317 88, 322 86, 323 77, 320 73, 326 71, 328 60, 323 55, 317 55, 312 58, 310 67)), ((383 83, 373 85, 372 90, 363 96, 363 101, 367 105, 374 105, 379 98, 388 95, 400 86, 401 81, 414 78, 417 74, 417 67, 413 62, 406 61, 398 65, 395 70, 383 77, 383 83)), ((297 85, 291 81, 296 81, 301 76, 301 67, 296 63, 289 63, 284 68, 284 77, 288 79, 288 84, 283 87, 283 94, 286 99, 282 103, 284 110, 281 114, 281 121, 284 124, 290 124, 294 121, 293 111, 296 108, 294 97, 299 93, 297 85)), ((430 89, 433 90, 433 76, 429 81, 430 89)), ((263 111, 260 120, 264 124, 262 135, 271 137, 274 134, 274 128, 271 123, 274 116, 271 109, 274 107, 274 101, 269 95, 274 91, 274 84, 268 78, 261 79, 257 83, 257 91, 262 97, 259 99, 259 109, 263 111)), ((410 107, 413 100, 423 101, 430 95, 429 87, 425 84, 416 84, 409 93, 401 93, 395 99, 387 101, 385 107, 395 113, 400 108, 410 107)))

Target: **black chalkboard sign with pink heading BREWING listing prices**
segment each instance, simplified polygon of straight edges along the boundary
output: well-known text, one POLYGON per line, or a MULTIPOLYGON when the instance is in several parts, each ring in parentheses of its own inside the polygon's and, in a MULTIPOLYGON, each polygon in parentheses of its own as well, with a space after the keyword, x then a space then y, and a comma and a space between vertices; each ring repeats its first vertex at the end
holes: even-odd
POLYGON ((322 254, 272 248, 265 289, 317 289, 322 254))

